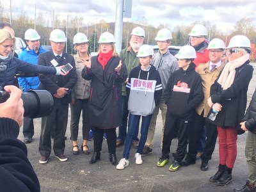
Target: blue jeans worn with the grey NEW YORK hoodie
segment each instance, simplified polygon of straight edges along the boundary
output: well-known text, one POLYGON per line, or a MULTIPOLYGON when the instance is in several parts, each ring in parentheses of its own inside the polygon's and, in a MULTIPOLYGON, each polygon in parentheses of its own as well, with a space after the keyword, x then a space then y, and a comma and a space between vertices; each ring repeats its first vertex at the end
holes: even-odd
MULTIPOLYGON (((129 159, 129 154, 131 150, 132 141, 134 138, 134 134, 136 134, 136 125, 140 122, 141 115, 132 115, 130 113, 129 115, 129 122, 128 122, 128 131, 126 135, 125 145, 124 145, 124 152, 123 152, 123 158, 129 159)), ((140 136, 140 142, 139 147, 137 150, 137 153, 141 154, 144 148, 144 145, 147 141, 147 135, 148 135, 148 127, 150 124, 150 120, 152 118, 152 115, 148 116, 142 116, 142 122, 141 122, 141 136, 140 136)))

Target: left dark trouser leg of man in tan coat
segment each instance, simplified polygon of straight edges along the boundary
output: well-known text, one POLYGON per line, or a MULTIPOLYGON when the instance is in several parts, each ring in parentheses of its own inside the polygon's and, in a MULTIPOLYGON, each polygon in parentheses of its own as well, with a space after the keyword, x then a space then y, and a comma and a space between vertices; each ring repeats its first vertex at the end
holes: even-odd
POLYGON ((191 159, 196 159, 196 153, 198 148, 198 143, 204 131, 205 118, 204 111, 201 115, 194 113, 193 125, 189 130, 189 147, 188 147, 188 157, 191 159))

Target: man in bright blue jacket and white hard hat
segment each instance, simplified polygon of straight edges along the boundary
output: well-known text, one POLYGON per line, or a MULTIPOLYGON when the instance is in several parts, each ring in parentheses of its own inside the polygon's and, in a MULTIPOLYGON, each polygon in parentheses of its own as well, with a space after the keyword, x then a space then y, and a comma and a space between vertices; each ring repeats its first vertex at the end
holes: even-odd
MULTIPOLYGON (((38 54, 45 52, 45 50, 40 47, 40 35, 38 35, 35 29, 28 29, 25 32, 25 40, 28 47, 26 47, 24 51, 20 52, 19 59, 36 65, 38 54)), ((37 90, 40 84, 38 77, 19 77, 18 82, 23 92, 37 90)), ((33 118, 28 116, 24 117, 23 135, 24 143, 30 143, 32 141, 32 137, 34 135, 33 118)))

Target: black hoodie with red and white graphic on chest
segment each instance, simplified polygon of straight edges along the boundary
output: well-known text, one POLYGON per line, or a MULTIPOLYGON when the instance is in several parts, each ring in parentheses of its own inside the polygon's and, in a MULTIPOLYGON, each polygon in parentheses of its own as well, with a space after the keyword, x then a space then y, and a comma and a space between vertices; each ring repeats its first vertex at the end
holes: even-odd
POLYGON ((164 99, 167 104, 167 114, 173 118, 192 120, 193 112, 204 99, 202 80, 195 72, 195 64, 190 63, 185 71, 182 68, 175 70, 170 76, 164 99))

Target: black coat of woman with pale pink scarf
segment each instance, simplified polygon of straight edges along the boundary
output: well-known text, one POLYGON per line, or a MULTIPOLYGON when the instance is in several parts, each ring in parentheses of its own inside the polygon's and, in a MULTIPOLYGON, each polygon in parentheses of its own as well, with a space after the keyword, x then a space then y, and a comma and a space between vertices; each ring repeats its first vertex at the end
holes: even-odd
POLYGON ((227 90, 223 90, 221 84, 217 82, 220 76, 216 79, 211 86, 211 99, 213 103, 220 103, 222 109, 213 122, 207 118, 209 122, 222 128, 235 127, 241 131, 240 123, 246 109, 247 90, 252 75, 253 67, 248 60, 241 67, 236 68, 234 82, 227 90))

